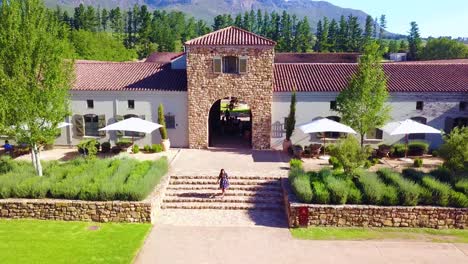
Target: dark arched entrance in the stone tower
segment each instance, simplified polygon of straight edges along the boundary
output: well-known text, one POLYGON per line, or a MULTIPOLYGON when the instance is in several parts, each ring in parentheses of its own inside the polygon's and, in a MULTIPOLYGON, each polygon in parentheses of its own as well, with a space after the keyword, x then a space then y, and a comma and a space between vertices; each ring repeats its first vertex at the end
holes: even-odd
POLYGON ((208 145, 223 148, 252 147, 252 112, 245 101, 226 97, 211 106, 208 145))

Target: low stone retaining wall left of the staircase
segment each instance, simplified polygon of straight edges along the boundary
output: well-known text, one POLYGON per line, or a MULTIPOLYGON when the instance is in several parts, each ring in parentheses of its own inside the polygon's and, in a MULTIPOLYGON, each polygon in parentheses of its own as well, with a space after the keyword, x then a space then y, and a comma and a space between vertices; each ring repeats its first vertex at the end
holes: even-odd
POLYGON ((149 223, 151 203, 5 199, 0 200, 0 218, 149 223))

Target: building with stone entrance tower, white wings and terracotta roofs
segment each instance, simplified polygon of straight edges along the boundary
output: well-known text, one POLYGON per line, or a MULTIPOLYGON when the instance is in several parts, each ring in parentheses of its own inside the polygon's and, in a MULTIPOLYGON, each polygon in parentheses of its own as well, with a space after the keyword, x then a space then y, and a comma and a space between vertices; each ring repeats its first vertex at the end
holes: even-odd
MULTIPOLYGON (((75 145, 83 138, 116 141, 133 137, 137 144, 159 143, 159 133, 104 133, 100 127, 138 116, 157 122, 165 107, 173 146, 206 148, 228 145, 281 148, 291 92, 297 92, 297 124, 317 117, 339 121, 335 98, 357 68, 358 54, 275 54, 276 43, 228 27, 185 43, 184 53, 155 53, 146 62, 76 63, 71 91, 74 125, 64 128, 56 144, 75 145), (250 107, 225 112, 229 102, 250 107), (234 128, 234 130, 233 130, 234 128), (234 132, 233 132, 234 131, 234 132), (223 141, 224 140, 224 141, 223 141)), ((468 123, 468 61, 386 63, 393 120, 412 118, 450 131, 468 123)), ((337 133, 305 135, 293 142, 307 145, 340 137, 337 133)), ((412 135, 433 147, 440 135, 412 135)), ((393 143, 376 129, 366 143, 393 143)))

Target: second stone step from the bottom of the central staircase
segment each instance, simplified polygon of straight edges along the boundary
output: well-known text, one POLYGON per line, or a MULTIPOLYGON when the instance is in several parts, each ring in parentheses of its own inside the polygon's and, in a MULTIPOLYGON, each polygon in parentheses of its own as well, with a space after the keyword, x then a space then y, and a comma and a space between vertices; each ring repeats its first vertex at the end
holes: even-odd
POLYGON ((255 203, 255 204, 276 204, 281 205, 281 198, 273 197, 237 197, 221 196, 215 197, 176 197, 167 196, 163 199, 164 203, 255 203))

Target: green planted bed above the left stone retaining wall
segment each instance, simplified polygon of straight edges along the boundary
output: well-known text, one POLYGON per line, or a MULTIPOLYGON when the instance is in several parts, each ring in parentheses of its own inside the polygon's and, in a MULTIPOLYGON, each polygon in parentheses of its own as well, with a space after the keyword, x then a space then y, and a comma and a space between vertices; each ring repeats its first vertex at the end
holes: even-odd
POLYGON ((30 162, 0 161, 0 199, 56 198, 87 201, 140 201, 168 170, 166 158, 76 159, 45 162, 44 176, 30 162))

